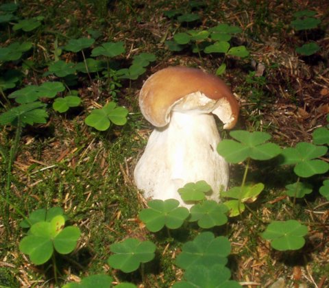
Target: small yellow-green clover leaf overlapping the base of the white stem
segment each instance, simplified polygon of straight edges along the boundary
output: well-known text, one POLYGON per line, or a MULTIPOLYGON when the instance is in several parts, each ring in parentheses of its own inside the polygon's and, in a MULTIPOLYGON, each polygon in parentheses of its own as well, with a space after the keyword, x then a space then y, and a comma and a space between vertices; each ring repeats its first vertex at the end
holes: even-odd
POLYGON ((209 193, 210 191, 210 185, 204 180, 187 183, 183 188, 178 189, 178 193, 180 193, 182 200, 185 202, 204 200, 206 197, 205 193, 209 193))

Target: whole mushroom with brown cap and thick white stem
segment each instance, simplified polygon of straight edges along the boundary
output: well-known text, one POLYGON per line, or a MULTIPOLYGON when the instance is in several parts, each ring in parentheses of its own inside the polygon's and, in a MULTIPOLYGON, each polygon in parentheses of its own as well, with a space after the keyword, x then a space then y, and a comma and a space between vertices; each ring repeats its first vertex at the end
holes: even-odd
POLYGON ((199 69, 168 67, 149 77, 139 96, 145 119, 155 126, 134 170, 136 187, 146 198, 174 198, 184 203, 178 189, 205 180, 209 199, 219 202, 227 189, 228 163, 217 153, 221 141, 212 115, 233 128, 239 105, 230 88, 217 76, 199 69))

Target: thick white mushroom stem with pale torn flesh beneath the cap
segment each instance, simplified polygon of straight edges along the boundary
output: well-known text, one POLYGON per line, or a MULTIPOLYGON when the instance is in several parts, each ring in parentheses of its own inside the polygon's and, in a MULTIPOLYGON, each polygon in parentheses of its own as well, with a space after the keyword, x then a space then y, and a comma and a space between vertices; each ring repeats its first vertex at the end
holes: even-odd
POLYGON ((144 190, 146 198, 174 198, 183 206, 191 206, 184 203, 178 193, 184 184, 205 180, 212 187, 209 198, 217 202, 220 189, 228 186, 228 164, 217 153, 221 139, 210 114, 218 108, 218 101, 202 93, 192 96, 195 96, 194 102, 184 101, 184 97, 174 104, 170 123, 156 128, 149 136, 134 171, 136 186, 144 190))

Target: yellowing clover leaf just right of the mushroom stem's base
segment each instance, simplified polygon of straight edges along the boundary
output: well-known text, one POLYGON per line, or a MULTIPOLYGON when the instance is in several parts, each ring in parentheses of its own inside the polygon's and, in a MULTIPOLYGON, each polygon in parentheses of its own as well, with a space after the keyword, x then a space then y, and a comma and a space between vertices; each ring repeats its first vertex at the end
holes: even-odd
POLYGON ((234 200, 228 200, 223 204, 226 205, 230 211, 230 217, 240 215, 245 211, 245 204, 256 201, 260 192, 264 189, 263 183, 257 184, 245 184, 243 187, 232 187, 228 191, 222 191, 222 197, 233 198, 234 200))

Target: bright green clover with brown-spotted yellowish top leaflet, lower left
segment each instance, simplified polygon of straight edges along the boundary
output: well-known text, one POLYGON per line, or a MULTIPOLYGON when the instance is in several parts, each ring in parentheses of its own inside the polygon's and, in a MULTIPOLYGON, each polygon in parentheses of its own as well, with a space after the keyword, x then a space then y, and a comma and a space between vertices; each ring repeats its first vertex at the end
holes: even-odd
POLYGON ((28 254, 32 263, 46 263, 56 250, 60 254, 71 253, 80 237, 75 226, 64 228, 65 218, 57 215, 51 221, 39 221, 29 229, 28 235, 19 243, 19 250, 28 254))

